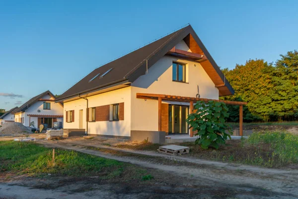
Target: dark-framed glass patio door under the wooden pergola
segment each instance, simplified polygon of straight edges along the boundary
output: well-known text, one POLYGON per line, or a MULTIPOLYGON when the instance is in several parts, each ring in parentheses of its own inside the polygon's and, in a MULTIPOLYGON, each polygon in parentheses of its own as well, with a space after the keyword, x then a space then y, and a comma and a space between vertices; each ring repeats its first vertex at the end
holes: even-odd
POLYGON ((169 104, 169 134, 188 134, 188 106, 169 104))

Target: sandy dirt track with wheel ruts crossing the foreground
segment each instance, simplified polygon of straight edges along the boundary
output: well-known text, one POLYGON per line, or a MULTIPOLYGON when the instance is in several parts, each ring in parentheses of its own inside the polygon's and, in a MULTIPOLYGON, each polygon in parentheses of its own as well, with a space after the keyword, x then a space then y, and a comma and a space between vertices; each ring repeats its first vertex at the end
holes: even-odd
MULTIPOLYGON (((66 139, 38 141, 51 148, 75 150, 104 158, 129 162, 151 169, 152 174, 164 176, 164 183, 150 186, 101 184, 92 179, 63 183, 45 189, 40 180, 12 179, 0 183, 0 195, 7 198, 91 199, 91 198, 298 198, 298 170, 267 169, 247 165, 200 160, 183 156, 169 156, 150 151, 133 151, 98 144, 96 139, 66 139), (96 147, 100 150, 87 149, 96 147), (101 150, 102 149, 102 150, 101 150), (116 149, 116 150, 115 150, 116 149), (88 184, 87 186, 86 183, 88 184), (82 189, 80 186, 84 186, 82 189), (86 188, 87 187, 87 188, 86 188), (89 188, 92 189, 89 189, 89 188), (81 190, 81 191, 73 191, 81 190), (117 192, 117 190, 121 190, 117 192)), ((57 183, 56 180, 54 182, 57 183)), ((53 182, 42 182, 53 184, 53 182)))

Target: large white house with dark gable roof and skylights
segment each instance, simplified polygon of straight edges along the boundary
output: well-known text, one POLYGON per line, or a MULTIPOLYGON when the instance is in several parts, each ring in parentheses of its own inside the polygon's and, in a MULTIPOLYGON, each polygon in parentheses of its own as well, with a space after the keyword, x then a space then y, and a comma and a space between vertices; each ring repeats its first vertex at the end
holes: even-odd
POLYGON ((95 69, 55 101, 64 103, 69 131, 156 142, 193 136, 185 119, 194 101, 233 94, 188 25, 95 69))

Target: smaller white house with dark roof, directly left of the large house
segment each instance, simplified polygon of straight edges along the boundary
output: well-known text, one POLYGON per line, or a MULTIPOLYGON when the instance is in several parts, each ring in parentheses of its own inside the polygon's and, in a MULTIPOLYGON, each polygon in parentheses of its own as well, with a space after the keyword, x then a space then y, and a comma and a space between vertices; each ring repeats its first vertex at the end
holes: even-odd
POLYGON ((46 91, 30 99, 19 108, 12 111, 14 121, 30 126, 34 121, 35 127, 39 128, 40 124, 48 124, 48 128, 53 127, 53 122, 63 122, 63 104, 55 103, 56 97, 46 91))

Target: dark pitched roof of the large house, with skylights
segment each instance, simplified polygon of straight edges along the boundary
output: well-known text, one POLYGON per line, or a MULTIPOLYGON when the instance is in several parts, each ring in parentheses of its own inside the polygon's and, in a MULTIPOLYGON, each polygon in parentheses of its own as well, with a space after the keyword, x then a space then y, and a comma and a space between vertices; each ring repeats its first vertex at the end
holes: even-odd
MULTIPOLYGON (((205 70, 210 69, 210 74, 215 74, 216 77, 211 79, 216 86, 221 85, 221 87, 218 87, 220 95, 233 95, 234 91, 225 79, 224 74, 217 66, 192 26, 188 24, 146 46, 94 69, 91 73, 59 96, 56 101, 71 99, 103 88, 112 87, 116 84, 132 83, 140 76, 145 75, 146 71, 153 64, 155 64, 162 56, 166 55, 166 53, 168 53, 181 40, 184 40, 190 48, 196 44, 196 46, 198 46, 197 49, 206 55, 208 61, 206 61, 206 66, 203 66, 203 68, 205 70), (113 68, 113 70, 106 74, 105 77, 94 78, 97 74, 103 74, 111 68, 113 68), (90 81, 92 78, 94 79, 90 81), (224 86, 222 86, 223 84, 224 86)), ((194 52, 192 49, 191 51, 194 52)))

